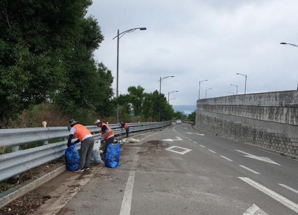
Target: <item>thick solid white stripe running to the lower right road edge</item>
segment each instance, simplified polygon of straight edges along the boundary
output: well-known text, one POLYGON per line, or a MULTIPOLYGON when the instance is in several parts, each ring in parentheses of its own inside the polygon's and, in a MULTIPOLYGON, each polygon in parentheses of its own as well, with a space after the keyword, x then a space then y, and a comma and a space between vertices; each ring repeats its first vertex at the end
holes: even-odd
POLYGON ((283 197, 282 195, 268 189, 267 187, 251 180, 250 178, 245 178, 245 177, 238 177, 242 181, 246 182, 247 184, 253 186, 254 188, 258 189, 259 191, 263 192, 264 194, 270 196, 271 198, 275 199, 276 201, 280 202, 284 206, 288 207, 292 211, 295 211, 298 213, 298 205, 291 200, 283 197))

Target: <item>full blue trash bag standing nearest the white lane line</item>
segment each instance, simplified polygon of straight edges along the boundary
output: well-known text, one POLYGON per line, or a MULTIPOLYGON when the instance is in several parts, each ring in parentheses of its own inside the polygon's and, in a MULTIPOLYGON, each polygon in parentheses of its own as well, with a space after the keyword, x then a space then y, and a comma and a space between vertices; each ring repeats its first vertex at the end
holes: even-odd
POLYGON ((104 163, 107 167, 115 168, 119 165, 120 157, 120 143, 109 144, 107 147, 107 152, 104 157, 104 163))

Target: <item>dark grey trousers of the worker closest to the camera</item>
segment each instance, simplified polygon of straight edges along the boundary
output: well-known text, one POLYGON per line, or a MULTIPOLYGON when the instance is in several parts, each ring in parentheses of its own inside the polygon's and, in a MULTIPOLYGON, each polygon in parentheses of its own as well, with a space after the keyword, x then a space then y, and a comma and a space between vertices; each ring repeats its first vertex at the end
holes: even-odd
POLYGON ((94 145, 94 138, 89 137, 81 142, 79 168, 90 167, 91 153, 94 145))

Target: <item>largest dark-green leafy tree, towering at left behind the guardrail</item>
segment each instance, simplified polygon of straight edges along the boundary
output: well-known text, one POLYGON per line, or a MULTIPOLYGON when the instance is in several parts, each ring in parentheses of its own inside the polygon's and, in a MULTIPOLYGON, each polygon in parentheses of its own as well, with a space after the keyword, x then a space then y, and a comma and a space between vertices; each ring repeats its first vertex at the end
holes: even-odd
POLYGON ((94 62, 90 57, 103 39, 97 22, 84 18, 91 3, 91 0, 0 0, 2 127, 31 104, 49 101, 65 88, 74 89, 74 85, 69 86, 71 79, 79 79, 81 86, 88 86, 89 82, 78 74, 82 72, 85 77, 91 71, 93 75, 94 62))

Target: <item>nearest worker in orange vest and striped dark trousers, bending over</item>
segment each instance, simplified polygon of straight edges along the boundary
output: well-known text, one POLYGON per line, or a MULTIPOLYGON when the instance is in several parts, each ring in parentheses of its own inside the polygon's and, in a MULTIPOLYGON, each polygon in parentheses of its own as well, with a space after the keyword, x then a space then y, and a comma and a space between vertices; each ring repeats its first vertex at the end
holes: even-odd
POLYGON ((94 137, 85 126, 79 124, 74 119, 71 119, 69 123, 71 129, 67 146, 69 147, 75 143, 81 142, 79 168, 77 170, 74 170, 74 172, 89 170, 90 158, 94 145, 94 137), (73 137, 77 138, 74 143, 72 143, 73 137))

